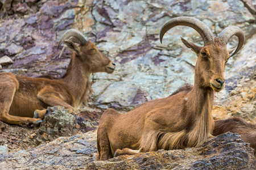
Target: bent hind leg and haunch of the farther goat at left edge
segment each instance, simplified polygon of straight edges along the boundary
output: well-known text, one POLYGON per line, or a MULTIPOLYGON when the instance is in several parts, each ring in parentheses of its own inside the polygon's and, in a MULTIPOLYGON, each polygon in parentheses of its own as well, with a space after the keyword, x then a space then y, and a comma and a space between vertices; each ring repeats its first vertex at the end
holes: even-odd
POLYGON ((15 92, 18 90, 18 88, 19 83, 14 74, 0 74, 0 121, 14 125, 39 125, 42 122, 40 118, 19 117, 9 114, 15 92))

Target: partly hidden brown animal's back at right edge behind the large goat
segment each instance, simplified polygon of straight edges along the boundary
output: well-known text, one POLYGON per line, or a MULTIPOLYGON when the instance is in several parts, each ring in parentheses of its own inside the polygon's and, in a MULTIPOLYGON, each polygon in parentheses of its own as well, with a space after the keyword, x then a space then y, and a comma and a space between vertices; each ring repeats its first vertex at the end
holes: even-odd
POLYGON ((254 148, 254 156, 256 158, 256 124, 247 122, 240 117, 216 120, 214 122, 214 136, 228 131, 240 134, 243 141, 250 143, 250 147, 254 148))

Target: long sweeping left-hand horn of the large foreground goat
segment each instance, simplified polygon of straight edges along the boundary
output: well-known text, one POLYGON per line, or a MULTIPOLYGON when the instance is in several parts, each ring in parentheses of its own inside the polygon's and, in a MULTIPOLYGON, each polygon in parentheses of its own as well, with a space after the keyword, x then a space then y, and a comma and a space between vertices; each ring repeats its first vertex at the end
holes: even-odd
POLYGON ((177 25, 184 25, 184 26, 188 26, 195 29, 203 38, 204 44, 205 42, 214 40, 214 35, 212 31, 210 31, 210 28, 207 27, 205 23, 201 22, 196 18, 192 18, 189 16, 180 16, 180 17, 168 20, 168 22, 166 22, 163 25, 159 34, 161 43, 162 43, 164 33, 166 33, 169 29, 177 25))

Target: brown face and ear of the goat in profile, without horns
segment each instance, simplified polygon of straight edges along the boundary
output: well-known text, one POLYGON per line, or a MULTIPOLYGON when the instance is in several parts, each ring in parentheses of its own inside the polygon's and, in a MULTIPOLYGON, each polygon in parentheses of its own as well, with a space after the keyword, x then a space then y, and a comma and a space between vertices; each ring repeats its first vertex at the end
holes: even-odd
POLYGON ((81 59, 90 73, 113 73, 115 64, 97 49, 93 42, 88 41, 84 45, 76 46, 72 41, 64 41, 69 50, 74 51, 81 59))

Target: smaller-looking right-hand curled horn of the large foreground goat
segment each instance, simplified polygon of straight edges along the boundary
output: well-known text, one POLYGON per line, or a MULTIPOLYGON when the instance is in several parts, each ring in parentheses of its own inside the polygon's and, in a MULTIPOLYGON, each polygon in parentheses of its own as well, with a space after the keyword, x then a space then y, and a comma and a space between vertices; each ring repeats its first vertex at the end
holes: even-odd
POLYGON ((243 33, 242 29, 236 26, 229 26, 223 29, 223 31, 221 31, 221 33, 218 35, 218 38, 221 40, 221 42, 225 42, 226 44, 228 44, 229 40, 233 36, 238 37, 238 45, 232 56, 234 56, 234 54, 236 54, 242 48, 243 43, 245 42, 245 34, 243 33))

